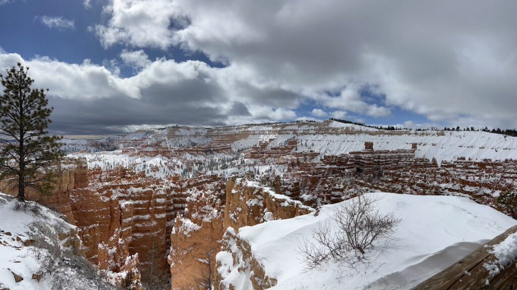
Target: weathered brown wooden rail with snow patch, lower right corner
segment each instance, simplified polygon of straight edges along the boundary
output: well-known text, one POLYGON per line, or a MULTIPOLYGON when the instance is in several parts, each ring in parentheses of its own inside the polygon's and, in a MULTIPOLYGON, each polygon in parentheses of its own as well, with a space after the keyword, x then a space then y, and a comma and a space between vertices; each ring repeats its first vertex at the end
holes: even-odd
POLYGON ((483 266, 485 263, 495 260, 495 256, 488 252, 492 249, 491 246, 499 244, 508 235, 515 232, 517 232, 517 225, 412 290, 517 289, 517 266, 515 265, 517 261, 511 263, 494 277, 490 277, 488 270, 483 266))

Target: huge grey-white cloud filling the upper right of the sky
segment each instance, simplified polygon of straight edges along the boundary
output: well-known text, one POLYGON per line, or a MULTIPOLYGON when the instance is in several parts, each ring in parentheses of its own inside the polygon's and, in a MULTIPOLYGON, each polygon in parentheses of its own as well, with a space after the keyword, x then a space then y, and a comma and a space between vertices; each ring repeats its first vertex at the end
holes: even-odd
POLYGON ((106 47, 202 51, 238 72, 226 77, 248 84, 246 95, 282 92, 290 109, 309 98, 372 117, 401 107, 436 122, 515 126, 515 11, 503 0, 113 0, 92 31, 106 47))

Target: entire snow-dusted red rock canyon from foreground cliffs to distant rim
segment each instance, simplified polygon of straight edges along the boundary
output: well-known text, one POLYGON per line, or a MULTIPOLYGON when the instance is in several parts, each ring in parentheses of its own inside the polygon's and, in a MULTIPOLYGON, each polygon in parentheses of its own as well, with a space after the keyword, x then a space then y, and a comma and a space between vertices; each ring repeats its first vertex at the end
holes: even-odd
POLYGON ((486 132, 331 120, 174 126, 64 139, 63 149, 52 195, 28 199, 75 225, 85 257, 115 284, 153 271, 172 289, 239 289, 224 267, 247 272, 254 289, 275 286, 240 229, 317 216, 365 192, 463 197, 505 212, 496 199, 517 185, 517 138, 486 132))

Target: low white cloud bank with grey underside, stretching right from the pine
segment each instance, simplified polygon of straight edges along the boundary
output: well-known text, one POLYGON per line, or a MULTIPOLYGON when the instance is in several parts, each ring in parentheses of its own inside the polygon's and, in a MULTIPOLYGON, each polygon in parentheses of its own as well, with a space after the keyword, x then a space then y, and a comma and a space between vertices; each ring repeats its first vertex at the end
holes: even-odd
POLYGON ((0 69, 17 62, 30 67, 35 87, 50 89, 53 132, 115 133, 143 124, 220 126, 297 117, 291 109, 243 102, 232 93, 235 84, 225 82, 225 71, 201 61, 160 58, 123 78, 109 70, 108 63, 99 66, 88 59, 66 63, 48 57, 25 60, 19 54, 0 53, 0 69))

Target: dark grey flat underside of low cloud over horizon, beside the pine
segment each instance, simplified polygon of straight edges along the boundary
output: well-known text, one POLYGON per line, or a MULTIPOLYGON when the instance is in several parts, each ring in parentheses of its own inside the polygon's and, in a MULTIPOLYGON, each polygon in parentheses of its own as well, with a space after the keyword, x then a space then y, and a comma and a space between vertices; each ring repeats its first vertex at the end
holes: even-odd
POLYGON ((77 101, 51 98, 54 105, 55 133, 105 134, 125 132, 125 128, 146 124, 195 124, 200 126, 224 125, 225 115, 218 108, 187 103, 159 103, 127 98, 97 101, 77 101))

